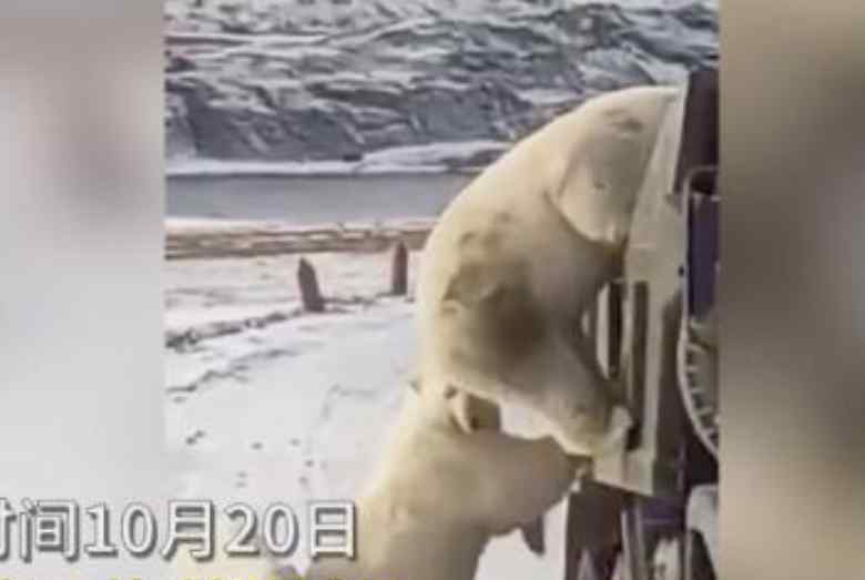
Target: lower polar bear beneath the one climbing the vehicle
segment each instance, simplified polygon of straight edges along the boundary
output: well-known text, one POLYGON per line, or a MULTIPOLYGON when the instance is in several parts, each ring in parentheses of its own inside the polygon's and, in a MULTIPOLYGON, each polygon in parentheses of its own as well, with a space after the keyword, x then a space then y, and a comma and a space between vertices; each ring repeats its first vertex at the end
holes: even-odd
POLYGON ((530 525, 574 480, 583 459, 551 438, 499 429, 496 405, 447 386, 408 391, 386 460, 357 502, 357 558, 319 559, 292 580, 471 580, 492 536, 530 525), (450 416, 462 398, 472 424, 450 416))

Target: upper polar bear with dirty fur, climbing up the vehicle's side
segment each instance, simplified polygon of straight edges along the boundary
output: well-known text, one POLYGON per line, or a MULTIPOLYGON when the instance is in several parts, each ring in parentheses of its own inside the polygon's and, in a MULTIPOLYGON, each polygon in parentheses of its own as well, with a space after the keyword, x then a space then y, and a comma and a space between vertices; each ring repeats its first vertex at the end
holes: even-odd
MULTIPOLYGON (((642 87, 590 99, 457 195, 424 252, 423 380, 531 409, 569 454, 597 456, 621 440, 630 415, 580 344, 578 322, 621 267, 638 191, 679 94, 642 87)), ((454 415, 469 427, 465 410, 454 415)))

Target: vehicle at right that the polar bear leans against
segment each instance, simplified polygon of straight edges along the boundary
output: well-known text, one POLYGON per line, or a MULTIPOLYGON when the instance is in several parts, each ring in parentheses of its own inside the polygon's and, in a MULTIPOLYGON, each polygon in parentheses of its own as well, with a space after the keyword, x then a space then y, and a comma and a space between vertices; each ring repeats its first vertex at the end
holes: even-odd
POLYGON ((567 498, 566 580, 718 578, 718 77, 689 74, 582 323, 635 420, 567 498))

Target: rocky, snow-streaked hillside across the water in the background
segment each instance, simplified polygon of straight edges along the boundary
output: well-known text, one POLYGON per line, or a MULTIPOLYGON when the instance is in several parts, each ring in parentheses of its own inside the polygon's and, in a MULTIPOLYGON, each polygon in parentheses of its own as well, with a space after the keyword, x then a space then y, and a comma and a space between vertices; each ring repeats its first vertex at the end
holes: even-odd
POLYGON ((432 162, 459 169, 587 95, 711 65, 718 19, 661 0, 169 0, 165 38, 170 171, 479 144, 432 162))

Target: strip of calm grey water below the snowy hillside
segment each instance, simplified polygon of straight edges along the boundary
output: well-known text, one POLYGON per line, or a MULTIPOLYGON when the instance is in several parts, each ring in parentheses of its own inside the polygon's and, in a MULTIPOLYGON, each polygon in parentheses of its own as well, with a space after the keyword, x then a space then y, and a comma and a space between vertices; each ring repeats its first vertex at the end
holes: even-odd
POLYGON ((171 177, 166 214, 295 225, 434 217, 470 179, 457 174, 171 177))

